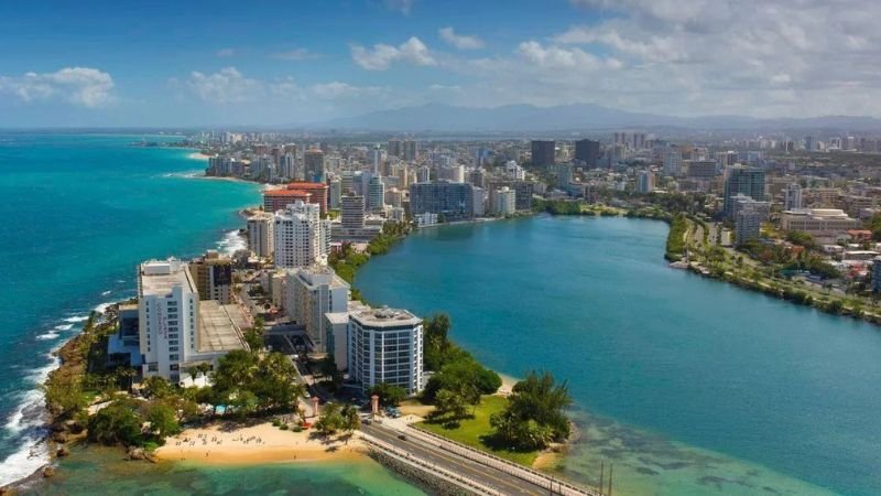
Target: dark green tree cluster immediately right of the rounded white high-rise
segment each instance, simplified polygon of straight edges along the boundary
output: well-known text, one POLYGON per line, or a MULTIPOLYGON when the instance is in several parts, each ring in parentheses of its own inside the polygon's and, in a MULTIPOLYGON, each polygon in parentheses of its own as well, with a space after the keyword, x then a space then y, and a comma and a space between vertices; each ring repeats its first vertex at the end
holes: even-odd
POLYGON ((502 379, 480 365, 468 352, 449 341, 449 316, 440 313, 424 323, 423 359, 435 374, 428 379, 422 400, 435 406, 434 417, 457 423, 474 414, 483 395, 496 392, 502 379), (470 407, 470 413, 469 413, 470 407))

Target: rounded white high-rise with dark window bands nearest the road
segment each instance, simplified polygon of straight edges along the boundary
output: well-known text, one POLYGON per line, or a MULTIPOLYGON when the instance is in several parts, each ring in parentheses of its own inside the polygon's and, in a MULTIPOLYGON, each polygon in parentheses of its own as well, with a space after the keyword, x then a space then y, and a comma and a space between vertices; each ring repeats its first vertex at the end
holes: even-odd
POLYGON ((348 341, 349 375, 365 391, 380 382, 422 390, 422 319, 388 308, 349 312, 348 341))

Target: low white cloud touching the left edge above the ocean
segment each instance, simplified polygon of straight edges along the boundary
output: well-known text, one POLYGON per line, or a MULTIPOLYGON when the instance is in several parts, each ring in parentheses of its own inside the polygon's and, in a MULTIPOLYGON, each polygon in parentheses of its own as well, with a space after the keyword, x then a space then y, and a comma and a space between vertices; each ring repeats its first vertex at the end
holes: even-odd
POLYGON ((0 93, 22 101, 58 98, 80 107, 101 107, 115 101, 113 78, 91 67, 65 67, 54 73, 0 76, 0 93))

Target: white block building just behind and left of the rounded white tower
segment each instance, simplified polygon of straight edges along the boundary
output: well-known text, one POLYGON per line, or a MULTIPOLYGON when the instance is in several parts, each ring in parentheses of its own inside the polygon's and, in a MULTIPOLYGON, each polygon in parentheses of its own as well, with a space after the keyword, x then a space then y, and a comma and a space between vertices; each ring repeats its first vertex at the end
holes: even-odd
POLYGON ((345 312, 348 294, 349 284, 327 266, 287 270, 285 310, 294 323, 306 326, 313 352, 327 352, 324 315, 345 312))

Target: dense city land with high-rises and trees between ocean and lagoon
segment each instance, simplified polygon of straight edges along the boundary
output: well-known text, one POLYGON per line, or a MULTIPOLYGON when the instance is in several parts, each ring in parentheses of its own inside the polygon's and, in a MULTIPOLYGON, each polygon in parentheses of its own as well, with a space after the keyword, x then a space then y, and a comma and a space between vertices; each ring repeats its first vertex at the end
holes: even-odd
MULTIPOLYGON (((359 431, 387 456, 433 460, 459 485, 511 490, 485 472, 511 474, 565 451, 566 384, 536 371, 503 386, 448 339, 447 315, 370 304, 355 287, 370 257, 443 224, 661 219, 672 268, 881 322, 881 154, 871 137, 674 141, 614 131, 463 141, 210 131, 175 140, 132 145, 199 150, 206 176, 264 184, 262 205, 241 213, 247 249, 143 261, 138 296, 94 314, 62 348, 64 366, 46 384, 58 455, 87 435, 150 457, 187 425, 265 418, 323 436, 359 431), (396 434, 404 427, 425 438, 396 434), (455 443, 446 450, 464 450, 461 459, 442 462, 425 448, 429 436, 455 443), (475 453, 491 462, 463 482, 456 474, 475 453)), ((561 493, 603 492, 529 474, 514 474, 513 487, 530 493, 556 481, 561 493)), ((610 494, 611 474, 608 484, 610 494)))

